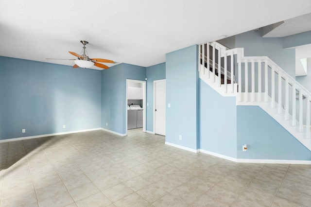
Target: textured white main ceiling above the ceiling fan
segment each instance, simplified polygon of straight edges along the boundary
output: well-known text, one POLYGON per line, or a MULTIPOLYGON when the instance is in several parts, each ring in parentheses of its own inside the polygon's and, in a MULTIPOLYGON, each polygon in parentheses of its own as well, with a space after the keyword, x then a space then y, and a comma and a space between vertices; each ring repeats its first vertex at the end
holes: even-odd
MULTIPOLYGON (((74 65, 90 58, 143 67, 165 54, 311 13, 311 0, 0 0, 0 55, 74 65)), ((93 69, 98 69, 92 67, 93 69)))

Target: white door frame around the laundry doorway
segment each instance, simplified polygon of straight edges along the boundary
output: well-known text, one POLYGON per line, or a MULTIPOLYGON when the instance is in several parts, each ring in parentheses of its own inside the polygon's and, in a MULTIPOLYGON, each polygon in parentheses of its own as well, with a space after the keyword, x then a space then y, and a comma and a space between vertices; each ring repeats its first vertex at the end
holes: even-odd
POLYGON ((146 81, 139 81, 133 79, 126 79, 126 90, 125 90, 125 135, 127 135, 127 88, 128 83, 141 83, 142 84, 142 131, 146 132, 146 81))

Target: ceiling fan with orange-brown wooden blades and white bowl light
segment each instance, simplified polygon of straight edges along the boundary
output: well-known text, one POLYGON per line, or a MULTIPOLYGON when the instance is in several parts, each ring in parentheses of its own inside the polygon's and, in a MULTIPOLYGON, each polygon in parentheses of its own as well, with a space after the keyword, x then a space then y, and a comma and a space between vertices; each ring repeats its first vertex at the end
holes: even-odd
POLYGON ((77 54, 75 52, 70 52, 70 54, 78 57, 78 59, 59 59, 59 58, 46 58, 47 60, 74 60, 75 65, 72 68, 90 68, 93 65, 102 69, 108 69, 109 67, 101 64, 101 63, 115 63, 112 60, 101 59, 101 58, 89 58, 86 55, 86 44, 88 43, 86 40, 80 41, 83 44, 83 54, 77 54))

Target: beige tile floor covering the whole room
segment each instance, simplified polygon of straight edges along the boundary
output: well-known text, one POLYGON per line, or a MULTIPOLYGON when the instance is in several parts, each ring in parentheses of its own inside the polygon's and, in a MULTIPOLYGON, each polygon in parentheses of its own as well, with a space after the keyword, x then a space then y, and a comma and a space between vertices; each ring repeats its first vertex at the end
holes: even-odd
POLYGON ((311 166, 242 164, 129 130, 0 143, 1 207, 311 207, 311 166))

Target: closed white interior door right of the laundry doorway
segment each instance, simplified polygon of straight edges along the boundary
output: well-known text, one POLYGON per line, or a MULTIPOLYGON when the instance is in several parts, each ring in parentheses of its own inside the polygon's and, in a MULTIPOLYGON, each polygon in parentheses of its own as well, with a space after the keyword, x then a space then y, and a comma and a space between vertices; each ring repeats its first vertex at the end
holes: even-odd
POLYGON ((155 134, 165 136, 165 80, 154 82, 155 134))

